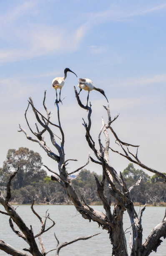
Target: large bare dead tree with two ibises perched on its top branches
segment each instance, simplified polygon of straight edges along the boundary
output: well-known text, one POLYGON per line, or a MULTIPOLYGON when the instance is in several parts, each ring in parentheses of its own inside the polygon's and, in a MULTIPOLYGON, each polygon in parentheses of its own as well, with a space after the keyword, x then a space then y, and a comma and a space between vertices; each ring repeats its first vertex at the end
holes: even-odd
POLYGON ((134 189, 134 187, 140 184, 141 177, 139 178, 138 182, 136 182, 136 184, 133 184, 132 187, 128 188, 122 177, 122 174, 120 173, 120 176, 119 176, 116 170, 113 168, 113 166, 111 166, 109 162, 109 151, 113 151, 116 154, 120 154, 121 156, 127 158, 129 161, 135 164, 138 164, 143 169, 146 169, 150 172, 158 174, 165 180, 165 182, 166 182, 166 176, 163 173, 158 172, 154 169, 151 169, 148 166, 141 163, 141 161, 138 159, 138 146, 123 142, 119 139, 116 132, 113 130, 111 126, 111 124, 118 118, 118 115, 116 115, 115 118, 111 119, 109 105, 108 107, 104 106, 108 114, 108 122, 104 123, 102 119, 102 127, 98 135, 98 147, 97 147, 91 135, 91 115, 92 115, 91 103, 90 103, 90 106, 84 106, 80 101, 80 98, 75 88, 74 90, 75 90, 75 97, 77 99, 78 105, 80 106, 80 108, 83 108, 85 111, 88 112, 88 120, 87 122, 83 120, 83 126, 85 127, 85 130, 86 130, 86 141, 89 147, 91 148, 91 150, 93 151, 94 155, 96 156, 96 159, 89 156, 88 162, 90 158, 91 161, 101 166, 101 170, 103 172, 103 178, 101 181, 99 181, 97 177, 95 177, 95 179, 96 179, 98 196, 103 202, 103 207, 106 213, 94 210, 92 207, 87 205, 83 197, 81 198, 78 197, 77 193, 75 192, 75 189, 73 187, 73 184, 70 180, 69 175, 75 172, 78 172, 80 169, 86 166, 88 162, 84 166, 81 166, 80 168, 74 170, 73 172, 70 172, 70 173, 67 172, 66 165, 68 164, 68 161, 76 161, 76 160, 65 159, 65 152, 64 152, 65 136, 63 133, 63 128, 60 123, 59 105, 57 102, 56 102, 56 107, 57 107, 58 121, 57 121, 57 124, 55 124, 50 121, 50 113, 48 112, 48 109, 45 105, 45 96, 44 96, 43 106, 47 114, 46 116, 44 116, 35 108, 35 105, 33 104, 33 100, 30 98, 28 108, 29 106, 32 107, 33 113, 35 114, 35 118, 38 121, 38 124, 40 124, 42 131, 39 131, 38 125, 36 125, 37 131, 38 131, 37 133, 34 132, 32 128, 30 128, 30 125, 28 123, 28 119, 26 116, 28 108, 25 111, 25 118, 27 120, 27 124, 30 128, 30 131, 33 133, 35 137, 33 138, 29 136, 29 134, 21 126, 20 126, 20 131, 25 133, 28 140, 37 142, 45 150, 48 156, 57 162, 58 172, 52 171, 46 166, 47 169, 54 174, 51 176, 51 179, 55 182, 58 182, 67 191, 68 196, 70 197, 70 200, 73 202, 73 205, 75 206, 76 210, 80 212, 83 218, 88 219, 89 221, 93 220, 97 222, 99 227, 101 226, 103 229, 106 229, 108 231, 109 238, 113 246, 112 255, 115 255, 115 256, 128 255, 126 237, 123 230, 123 213, 124 211, 127 211, 131 220, 131 227, 132 227, 132 234, 131 234, 131 241, 130 241, 131 255, 147 256, 152 251, 157 250, 157 247, 161 244, 161 239, 160 239, 161 237, 166 238, 166 214, 163 218, 163 221, 159 223, 155 228, 153 228, 153 230, 151 230, 151 233, 143 242, 142 241, 143 228, 141 225, 141 218, 146 205, 142 208, 140 214, 138 215, 134 209, 134 205, 130 196, 130 191, 134 189), (61 134, 60 143, 57 142, 59 137, 55 136, 55 134, 53 133, 53 128, 57 128, 60 131, 60 134, 61 134), (44 140, 43 134, 46 131, 49 133, 50 141, 55 148, 54 152, 48 147, 47 143, 44 140), (110 137, 108 133, 109 131, 113 134, 116 143, 118 143, 121 148, 121 151, 115 151, 110 146, 110 137), (102 133, 105 136, 105 144, 103 144, 101 140, 102 133), (136 149, 136 154, 132 153, 133 148, 136 149), (104 194, 105 183, 108 184, 110 195, 116 200, 113 211, 111 211, 110 202, 104 194))

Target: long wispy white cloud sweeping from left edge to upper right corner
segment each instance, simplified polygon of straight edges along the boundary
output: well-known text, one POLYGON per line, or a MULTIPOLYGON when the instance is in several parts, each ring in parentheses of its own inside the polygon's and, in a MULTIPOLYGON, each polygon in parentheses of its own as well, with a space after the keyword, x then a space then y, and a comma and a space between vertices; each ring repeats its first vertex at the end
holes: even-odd
MULTIPOLYGON (((38 1, 24 1, 13 10, 6 12, 0 18, 1 40, 5 47, 0 50, 0 62, 31 59, 48 54, 63 54, 77 51, 80 43, 91 29, 106 21, 120 21, 138 15, 156 12, 166 8, 166 4, 155 6, 111 4, 110 8, 98 13, 81 13, 77 28, 65 29, 65 26, 50 26, 46 24, 30 23, 24 19, 23 26, 18 23, 20 17, 35 13, 39 7, 38 1), (85 19, 86 17, 86 19, 85 19), (81 20, 86 20, 82 23, 81 20), (16 26, 17 23, 17 26, 16 26), (2 26, 3 25, 3 26, 2 26), (9 26, 10 25, 10 26, 9 26), (12 46, 11 46, 12 42, 12 46)), ((40 13, 42 15, 42 13, 40 13)), ((70 22, 70 21, 69 21, 70 22)), ((101 47, 93 47, 93 54, 102 53, 101 47)))

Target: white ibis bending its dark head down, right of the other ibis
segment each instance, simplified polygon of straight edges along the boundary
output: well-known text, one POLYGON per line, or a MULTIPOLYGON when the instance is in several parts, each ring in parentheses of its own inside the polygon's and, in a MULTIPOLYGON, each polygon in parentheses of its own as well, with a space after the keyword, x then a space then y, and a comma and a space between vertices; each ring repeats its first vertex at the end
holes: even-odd
MULTIPOLYGON (((80 92, 81 92, 82 90, 88 91, 87 105, 88 105, 88 99, 89 99, 89 92, 92 91, 92 90, 96 90, 96 91, 100 92, 101 94, 104 95, 104 97, 105 97, 106 100, 107 100, 107 97, 106 97, 104 91, 103 91, 102 89, 100 89, 100 88, 96 88, 96 87, 94 86, 94 84, 93 84, 93 82, 92 82, 91 79, 88 79, 88 78, 80 78, 80 79, 79 79, 79 83, 78 83, 78 87, 80 87, 80 91, 79 91, 78 95, 80 94, 80 92)), ((108 100, 107 100, 107 102, 108 102, 108 100)))

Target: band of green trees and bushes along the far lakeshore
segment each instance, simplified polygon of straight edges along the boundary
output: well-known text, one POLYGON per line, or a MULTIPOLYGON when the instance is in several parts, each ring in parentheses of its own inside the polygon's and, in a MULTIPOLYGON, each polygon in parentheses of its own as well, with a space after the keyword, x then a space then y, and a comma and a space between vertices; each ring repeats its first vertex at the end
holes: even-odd
MULTIPOLYGON (((37 204, 70 204, 68 195, 63 187, 53 182, 47 172, 42 169, 40 154, 28 148, 18 150, 9 149, 3 168, 0 168, 0 190, 5 196, 6 184, 13 171, 20 167, 15 179, 11 184, 11 201, 19 204, 29 204, 32 197, 37 204)), ((96 192, 96 175, 99 180, 102 176, 87 169, 80 171, 78 176, 72 180, 73 186, 88 204, 100 204, 100 198, 96 192)), ((122 172, 128 187, 135 184, 139 177, 142 181, 138 187, 131 191, 132 201, 137 204, 145 204, 148 199, 153 205, 164 205, 166 203, 166 186, 161 177, 156 174, 150 177, 143 170, 135 169, 133 164, 128 164, 122 172)), ((107 184, 105 184, 105 195, 110 204, 114 203, 109 196, 107 184)))

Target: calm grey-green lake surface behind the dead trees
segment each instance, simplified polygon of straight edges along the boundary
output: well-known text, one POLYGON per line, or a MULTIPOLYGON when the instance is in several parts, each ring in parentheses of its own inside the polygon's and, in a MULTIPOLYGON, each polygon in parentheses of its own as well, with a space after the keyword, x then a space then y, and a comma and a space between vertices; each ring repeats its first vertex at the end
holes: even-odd
MULTIPOLYGON (((17 205, 14 205, 17 207, 17 205)), ((93 206, 94 209, 99 211, 104 211, 103 207, 100 205, 93 206)), ((136 211, 139 212, 140 207, 135 207, 136 211)), ((3 206, 0 205, 0 210, 3 210, 3 206)), ((54 237, 54 232, 59 239, 60 243, 70 241, 78 236, 89 236, 101 232, 98 236, 95 236, 86 241, 78 241, 67 247, 64 247, 60 250, 60 256, 111 256, 111 242, 108 237, 106 230, 98 228, 98 224, 93 221, 89 223, 88 220, 84 220, 81 215, 75 210, 73 205, 34 205, 34 209, 40 216, 45 216, 46 210, 50 213, 50 218, 52 218, 56 224, 48 232, 43 234, 43 244, 46 251, 56 248, 57 241, 54 237)), ((113 207, 112 207, 113 209, 113 207)), ((23 218, 24 222, 30 228, 30 225, 33 226, 34 234, 38 233, 40 230, 40 221, 32 213, 30 205, 20 205, 17 208, 17 212, 23 218)), ((163 220, 165 212, 165 207, 146 207, 146 210, 143 212, 142 217, 142 226, 143 226, 143 241, 150 233, 151 229, 155 227, 158 223, 163 220)), ((130 228, 130 220, 128 218, 127 212, 124 214, 123 218, 124 230, 130 228)), ((50 224, 50 221, 48 221, 50 224)), ((128 229, 128 230, 131 230, 128 229)), ((128 231, 127 230, 127 231, 128 231)), ((8 216, 0 214, 0 239, 5 243, 9 243, 22 250, 23 248, 28 248, 28 244, 23 241, 22 238, 19 238, 11 230, 8 223, 8 216)), ((130 232, 126 233, 126 240, 129 249, 129 240, 130 232)), ((166 240, 161 238, 163 243, 158 247, 157 253, 153 252, 151 256, 166 256, 166 240)), ((37 239, 38 241, 38 239, 37 239)), ((7 253, 0 251, 0 256, 8 255, 7 253)), ((31 254, 30 254, 31 255, 31 254)), ((55 251, 48 253, 49 256, 54 256, 55 251)))

